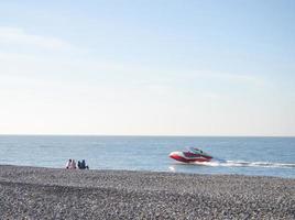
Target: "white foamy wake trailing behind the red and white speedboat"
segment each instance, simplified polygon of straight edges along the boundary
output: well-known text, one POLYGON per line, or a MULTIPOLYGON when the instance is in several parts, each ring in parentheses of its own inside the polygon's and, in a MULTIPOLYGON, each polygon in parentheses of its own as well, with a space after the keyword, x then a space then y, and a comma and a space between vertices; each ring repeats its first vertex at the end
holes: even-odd
POLYGON ((271 162, 211 161, 203 163, 196 162, 195 164, 203 166, 295 168, 295 164, 271 163, 271 162))

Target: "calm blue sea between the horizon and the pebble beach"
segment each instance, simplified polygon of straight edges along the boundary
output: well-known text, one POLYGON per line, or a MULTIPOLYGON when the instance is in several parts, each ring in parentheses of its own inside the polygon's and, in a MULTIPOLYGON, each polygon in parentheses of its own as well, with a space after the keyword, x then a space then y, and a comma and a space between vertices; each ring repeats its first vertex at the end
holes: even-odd
POLYGON ((84 158, 91 169, 295 178, 295 138, 0 135, 0 164, 63 168, 68 158, 84 158), (200 165, 168 157, 189 146, 215 160, 200 165))

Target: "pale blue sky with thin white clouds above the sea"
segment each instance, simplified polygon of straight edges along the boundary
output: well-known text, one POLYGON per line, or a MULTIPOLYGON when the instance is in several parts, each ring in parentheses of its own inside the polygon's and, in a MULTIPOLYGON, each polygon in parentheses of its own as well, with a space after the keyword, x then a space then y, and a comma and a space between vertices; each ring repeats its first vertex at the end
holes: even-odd
POLYGON ((295 135, 293 0, 0 0, 0 134, 295 135))

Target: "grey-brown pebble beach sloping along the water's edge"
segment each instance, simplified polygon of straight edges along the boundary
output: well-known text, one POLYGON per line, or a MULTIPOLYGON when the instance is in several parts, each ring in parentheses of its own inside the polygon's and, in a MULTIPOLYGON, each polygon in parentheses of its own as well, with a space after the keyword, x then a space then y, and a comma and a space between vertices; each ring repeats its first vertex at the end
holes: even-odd
POLYGON ((295 179, 3 165, 0 219, 295 219, 295 179))

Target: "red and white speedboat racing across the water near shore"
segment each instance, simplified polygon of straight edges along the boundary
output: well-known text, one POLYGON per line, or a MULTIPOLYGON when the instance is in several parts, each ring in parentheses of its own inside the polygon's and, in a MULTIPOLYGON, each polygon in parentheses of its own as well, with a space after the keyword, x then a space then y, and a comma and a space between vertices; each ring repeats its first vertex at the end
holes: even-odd
POLYGON ((209 162, 212 160, 212 156, 196 147, 189 147, 184 152, 172 152, 170 157, 183 163, 209 162))

